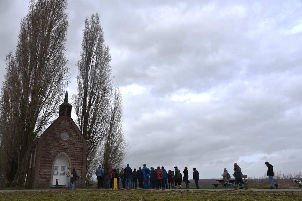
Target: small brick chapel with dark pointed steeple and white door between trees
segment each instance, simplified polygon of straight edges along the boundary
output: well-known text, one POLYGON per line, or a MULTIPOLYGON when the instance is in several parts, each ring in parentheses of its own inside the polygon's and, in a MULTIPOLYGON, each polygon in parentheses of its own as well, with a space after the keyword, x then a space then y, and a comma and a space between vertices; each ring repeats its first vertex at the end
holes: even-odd
MULTIPOLYGON (((59 117, 36 139, 26 177, 26 188, 52 188, 66 184, 68 166, 85 185, 87 141, 71 118, 72 105, 66 91, 59 117)), ((79 182, 76 182, 77 187, 79 182)))

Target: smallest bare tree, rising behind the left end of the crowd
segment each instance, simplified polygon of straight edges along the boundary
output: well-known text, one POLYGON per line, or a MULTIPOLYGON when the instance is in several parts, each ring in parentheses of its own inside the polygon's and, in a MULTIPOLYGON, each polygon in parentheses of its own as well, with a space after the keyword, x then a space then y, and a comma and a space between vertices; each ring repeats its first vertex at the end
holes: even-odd
POLYGON ((102 167, 121 167, 126 159, 128 142, 123 129, 122 94, 117 85, 111 85, 109 97, 110 117, 106 138, 102 142, 98 157, 102 167))

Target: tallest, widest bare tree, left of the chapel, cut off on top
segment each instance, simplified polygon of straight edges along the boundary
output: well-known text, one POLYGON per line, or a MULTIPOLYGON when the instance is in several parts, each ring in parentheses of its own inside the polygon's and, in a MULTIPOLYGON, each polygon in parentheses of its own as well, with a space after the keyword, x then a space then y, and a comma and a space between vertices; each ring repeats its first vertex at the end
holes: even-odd
POLYGON ((1 90, 1 164, 7 186, 23 186, 34 138, 54 115, 69 75, 67 0, 31 0, 1 90))

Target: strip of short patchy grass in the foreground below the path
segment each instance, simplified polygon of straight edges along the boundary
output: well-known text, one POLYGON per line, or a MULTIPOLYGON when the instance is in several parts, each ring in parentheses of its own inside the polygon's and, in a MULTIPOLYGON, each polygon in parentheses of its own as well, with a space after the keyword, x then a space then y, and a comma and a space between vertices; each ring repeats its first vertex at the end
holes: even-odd
POLYGON ((301 192, 285 191, 156 191, 156 190, 50 190, 1 192, 0 200, 301 200, 301 192))

